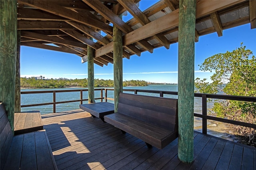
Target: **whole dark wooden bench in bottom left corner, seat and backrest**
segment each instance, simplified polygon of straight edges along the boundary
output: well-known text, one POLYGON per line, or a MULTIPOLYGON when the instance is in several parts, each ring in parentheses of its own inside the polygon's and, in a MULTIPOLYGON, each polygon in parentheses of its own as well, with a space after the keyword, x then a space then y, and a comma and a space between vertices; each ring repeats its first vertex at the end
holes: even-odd
POLYGON ((0 170, 57 170, 45 130, 13 136, 0 103, 0 170))

